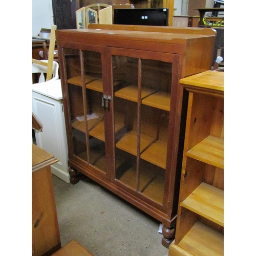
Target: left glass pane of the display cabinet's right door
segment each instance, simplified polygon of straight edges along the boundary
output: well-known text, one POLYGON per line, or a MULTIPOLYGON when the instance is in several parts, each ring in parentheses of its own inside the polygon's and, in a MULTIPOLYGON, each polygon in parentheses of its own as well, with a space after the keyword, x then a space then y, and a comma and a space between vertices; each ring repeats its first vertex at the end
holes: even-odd
POLYGON ((138 59, 113 56, 113 80, 116 179, 137 190, 138 59))

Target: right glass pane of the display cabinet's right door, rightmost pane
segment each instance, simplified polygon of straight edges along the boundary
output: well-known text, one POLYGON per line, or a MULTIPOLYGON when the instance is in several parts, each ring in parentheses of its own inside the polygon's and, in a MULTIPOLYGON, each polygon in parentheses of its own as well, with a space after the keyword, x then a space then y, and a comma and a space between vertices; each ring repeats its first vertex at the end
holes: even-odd
POLYGON ((163 203, 172 63, 141 60, 139 191, 163 203), (146 138, 144 145, 143 138, 146 138))

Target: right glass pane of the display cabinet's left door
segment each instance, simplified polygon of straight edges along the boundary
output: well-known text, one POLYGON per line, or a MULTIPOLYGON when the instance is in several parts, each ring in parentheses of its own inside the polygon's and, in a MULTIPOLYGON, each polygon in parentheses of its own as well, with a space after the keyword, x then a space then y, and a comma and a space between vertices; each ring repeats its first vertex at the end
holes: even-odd
POLYGON ((83 51, 84 82, 86 83, 86 126, 89 133, 88 162, 103 172, 105 165, 104 108, 101 54, 83 51))

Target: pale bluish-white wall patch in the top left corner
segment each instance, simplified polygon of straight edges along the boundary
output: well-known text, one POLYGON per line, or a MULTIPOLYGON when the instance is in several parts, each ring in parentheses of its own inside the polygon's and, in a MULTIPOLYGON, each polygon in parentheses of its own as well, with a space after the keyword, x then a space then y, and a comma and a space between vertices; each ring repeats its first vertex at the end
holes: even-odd
POLYGON ((51 29, 53 24, 52 0, 32 0, 32 36, 41 28, 51 29))

